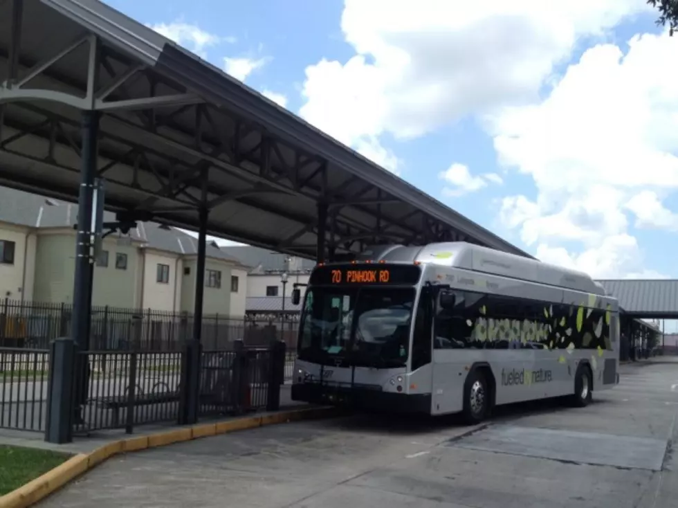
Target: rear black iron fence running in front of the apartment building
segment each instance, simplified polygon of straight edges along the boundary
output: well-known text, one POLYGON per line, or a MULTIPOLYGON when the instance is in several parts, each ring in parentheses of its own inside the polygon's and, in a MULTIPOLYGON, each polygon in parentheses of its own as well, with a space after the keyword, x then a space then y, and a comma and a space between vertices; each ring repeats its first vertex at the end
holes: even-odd
MULTIPOLYGON (((0 347, 48 349, 71 334, 72 306, 66 303, 0 300, 0 347)), ((272 340, 296 342, 297 322, 279 316, 205 315, 201 342, 205 350, 227 350, 236 340, 248 346, 272 340)), ((179 351, 192 338, 193 317, 187 312, 92 307, 89 350, 179 351)))

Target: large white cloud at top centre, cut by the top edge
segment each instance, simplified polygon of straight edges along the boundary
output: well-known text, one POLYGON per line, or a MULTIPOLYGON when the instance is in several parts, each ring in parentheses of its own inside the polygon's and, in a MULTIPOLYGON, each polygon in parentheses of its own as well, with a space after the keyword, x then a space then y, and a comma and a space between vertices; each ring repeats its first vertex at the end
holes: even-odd
POLYGON ((300 114, 351 146, 385 132, 421 136, 537 99, 581 37, 649 9, 639 0, 345 0, 341 28, 356 55, 306 69, 300 114))

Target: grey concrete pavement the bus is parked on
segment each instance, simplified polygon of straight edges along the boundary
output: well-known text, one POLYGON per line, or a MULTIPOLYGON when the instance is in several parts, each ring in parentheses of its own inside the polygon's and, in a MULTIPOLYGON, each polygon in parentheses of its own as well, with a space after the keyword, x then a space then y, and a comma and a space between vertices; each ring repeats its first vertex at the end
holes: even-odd
POLYGON ((625 365, 587 408, 482 427, 353 416, 114 457, 42 507, 675 507, 678 363, 625 365))

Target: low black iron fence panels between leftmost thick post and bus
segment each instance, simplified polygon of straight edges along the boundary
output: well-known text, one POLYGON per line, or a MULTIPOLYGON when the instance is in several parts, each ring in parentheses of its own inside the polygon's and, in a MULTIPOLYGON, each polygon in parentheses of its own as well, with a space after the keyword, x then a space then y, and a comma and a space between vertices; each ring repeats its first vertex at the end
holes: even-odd
MULTIPOLYGON (((74 430, 125 428, 161 421, 179 421, 185 392, 182 368, 186 352, 81 352, 75 379, 74 430), (78 392, 86 386, 84 395, 78 392)), ((201 352, 199 363, 199 417, 238 415, 280 406, 286 351, 283 343, 201 352)))

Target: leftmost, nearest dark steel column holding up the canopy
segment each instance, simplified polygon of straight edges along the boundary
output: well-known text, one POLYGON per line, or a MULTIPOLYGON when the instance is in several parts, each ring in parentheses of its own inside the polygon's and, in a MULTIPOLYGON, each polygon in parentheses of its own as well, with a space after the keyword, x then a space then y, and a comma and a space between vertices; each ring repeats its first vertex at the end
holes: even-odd
MULTIPOLYGON (((93 275, 93 199, 97 173, 97 138, 99 114, 82 111, 82 147, 80 159, 80 192, 77 200, 77 240, 75 244, 75 278, 73 281, 73 316, 71 330, 76 353, 89 348, 91 319, 91 277, 93 275)), ((89 382, 88 362, 76 354, 75 361, 75 424, 82 421, 82 406, 89 382)))

